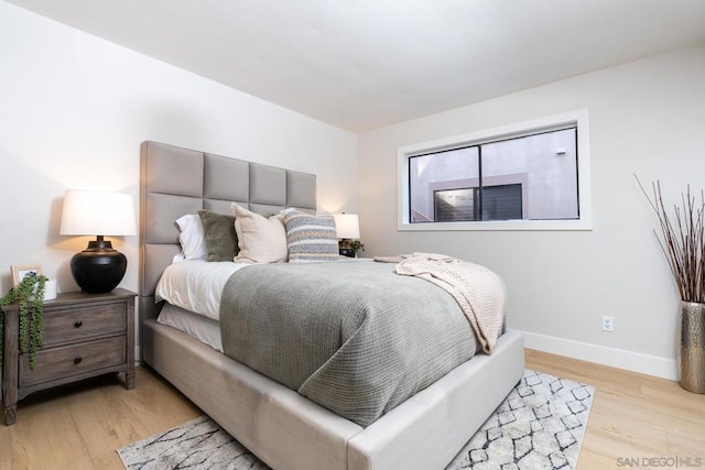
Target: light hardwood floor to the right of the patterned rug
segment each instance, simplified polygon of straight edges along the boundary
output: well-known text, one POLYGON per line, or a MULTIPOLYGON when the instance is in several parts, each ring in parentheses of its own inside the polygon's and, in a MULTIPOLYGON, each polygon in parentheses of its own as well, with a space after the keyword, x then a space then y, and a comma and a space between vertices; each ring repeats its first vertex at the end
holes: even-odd
POLYGON ((705 468, 705 395, 664 379, 532 350, 527 368, 595 386, 578 469, 632 468, 628 459, 639 468, 674 468, 674 458, 692 464, 699 459, 705 468))

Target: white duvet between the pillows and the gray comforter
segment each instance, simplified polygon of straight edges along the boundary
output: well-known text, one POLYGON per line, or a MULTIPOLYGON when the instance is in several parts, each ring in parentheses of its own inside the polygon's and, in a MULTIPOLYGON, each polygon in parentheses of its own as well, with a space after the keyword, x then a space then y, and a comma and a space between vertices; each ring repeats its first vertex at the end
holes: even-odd
POLYGON ((225 283, 232 273, 250 265, 200 260, 170 264, 156 284, 155 299, 218 321, 225 283))

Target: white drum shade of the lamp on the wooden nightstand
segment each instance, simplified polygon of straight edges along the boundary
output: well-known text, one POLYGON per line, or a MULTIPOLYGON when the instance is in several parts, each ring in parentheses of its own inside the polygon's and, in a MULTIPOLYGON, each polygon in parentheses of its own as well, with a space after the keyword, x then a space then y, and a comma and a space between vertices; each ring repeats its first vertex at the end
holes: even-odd
POLYGON ((132 195, 97 190, 67 190, 62 212, 63 236, 133 236, 132 195))

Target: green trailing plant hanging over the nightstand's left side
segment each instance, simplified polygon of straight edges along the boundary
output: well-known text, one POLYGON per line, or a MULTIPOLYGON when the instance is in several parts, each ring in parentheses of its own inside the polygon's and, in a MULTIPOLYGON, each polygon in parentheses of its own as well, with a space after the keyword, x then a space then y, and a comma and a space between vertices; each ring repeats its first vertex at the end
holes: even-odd
MULTIPOLYGON (((30 369, 36 365, 36 351, 42 347, 44 323, 44 275, 25 275, 6 295, 0 297, 0 308, 10 304, 19 304, 20 352, 30 354, 30 369)), ((0 345, 4 345, 4 318, 0 310, 0 345)), ((2 359, 0 348, 0 363, 2 359)))

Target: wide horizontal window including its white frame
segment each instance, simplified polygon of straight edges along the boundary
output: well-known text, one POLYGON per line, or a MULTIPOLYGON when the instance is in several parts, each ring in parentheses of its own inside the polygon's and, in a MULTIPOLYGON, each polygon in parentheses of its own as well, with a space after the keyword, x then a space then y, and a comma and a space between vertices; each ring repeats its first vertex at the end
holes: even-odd
POLYGON ((587 127, 577 111, 399 149, 399 229, 590 229, 587 127))

